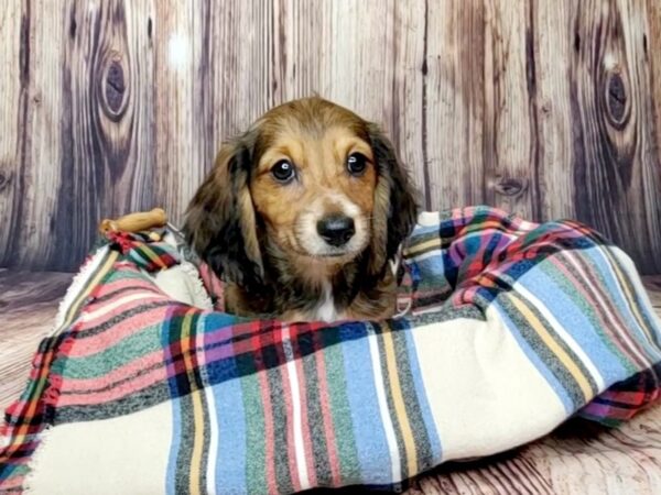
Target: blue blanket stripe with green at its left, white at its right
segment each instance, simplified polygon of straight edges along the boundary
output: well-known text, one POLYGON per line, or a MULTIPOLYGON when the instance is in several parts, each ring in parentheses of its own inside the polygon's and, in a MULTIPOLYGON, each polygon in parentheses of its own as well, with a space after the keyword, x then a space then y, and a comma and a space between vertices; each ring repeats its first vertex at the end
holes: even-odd
POLYGON ((344 341, 347 397, 362 480, 376 485, 390 484, 393 482, 390 451, 375 387, 367 329, 365 324, 349 323, 338 331, 344 341), (357 332, 365 338, 356 339, 357 332))

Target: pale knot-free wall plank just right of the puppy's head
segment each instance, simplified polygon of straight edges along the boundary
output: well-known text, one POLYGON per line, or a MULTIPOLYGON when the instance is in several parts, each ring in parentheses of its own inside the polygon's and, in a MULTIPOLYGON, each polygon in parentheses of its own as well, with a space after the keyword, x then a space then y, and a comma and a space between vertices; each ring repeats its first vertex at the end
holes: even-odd
MULTIPOLYGON (((485 202, 485 8, 427 1, 423 61, 427 209, 485 202)), ((489 81, 490 84, 490 81, 489 81)))

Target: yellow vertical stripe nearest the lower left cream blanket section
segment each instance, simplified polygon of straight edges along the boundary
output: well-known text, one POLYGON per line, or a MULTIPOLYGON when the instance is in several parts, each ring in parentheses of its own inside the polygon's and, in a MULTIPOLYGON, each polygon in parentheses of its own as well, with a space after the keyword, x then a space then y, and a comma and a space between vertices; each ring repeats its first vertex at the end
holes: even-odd
MULTIPOLYGON (((191 359, 191 348, 188 346, 191 337, 192 312, 187 312, 182 322, 182 355, 184 365, 188 374, 191 388, 195 385, 195 376, 193 374, 193 360, 191 359)), ((193 452, 191 454, 191 475, 189 490, 191 494, 199 494, 199 481, 202 480, 202 450, 204 447, 204 410, 202 407, 201 392, 195 389, 191 392, 191 402, 193 403, 193 452)))

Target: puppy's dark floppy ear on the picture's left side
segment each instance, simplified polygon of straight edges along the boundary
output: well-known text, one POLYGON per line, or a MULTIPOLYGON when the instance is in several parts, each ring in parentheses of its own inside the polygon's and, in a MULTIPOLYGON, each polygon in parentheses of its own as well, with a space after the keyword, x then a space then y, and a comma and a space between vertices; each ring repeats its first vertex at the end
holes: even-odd
POLYGON ((253 140, 223 145, 186 211, 188 244, 223 279, 246 289, 263 285, 262 256, 250 196, 253 140))

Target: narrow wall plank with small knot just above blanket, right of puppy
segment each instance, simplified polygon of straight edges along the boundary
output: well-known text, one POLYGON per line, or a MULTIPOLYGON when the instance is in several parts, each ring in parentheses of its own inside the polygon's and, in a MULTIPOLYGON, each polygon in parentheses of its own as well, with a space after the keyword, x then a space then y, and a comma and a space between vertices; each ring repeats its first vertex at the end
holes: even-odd
POLYGON ((486 202, 539 218, 532 2, 485 2, 486 202))

